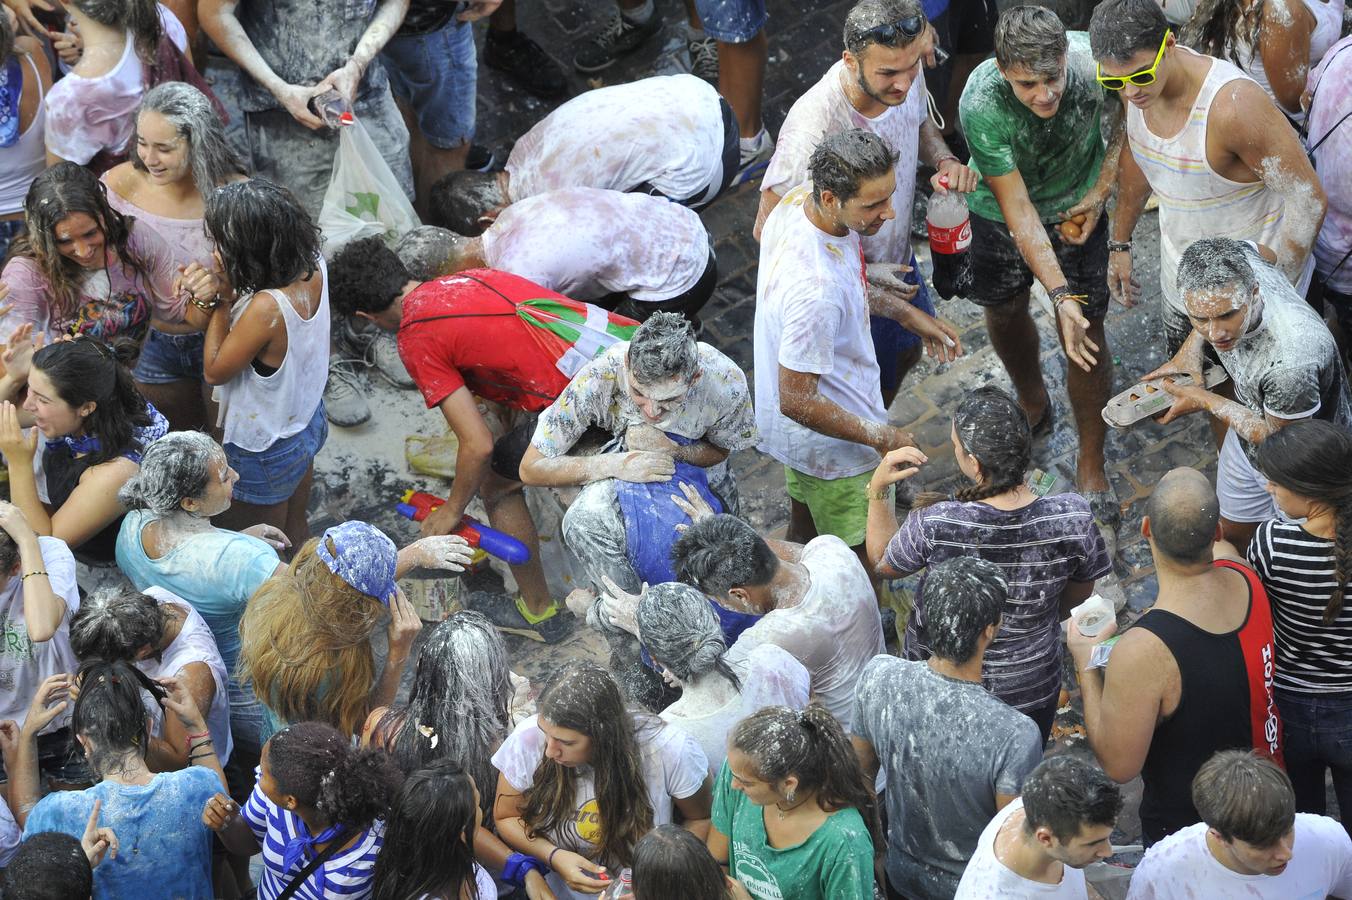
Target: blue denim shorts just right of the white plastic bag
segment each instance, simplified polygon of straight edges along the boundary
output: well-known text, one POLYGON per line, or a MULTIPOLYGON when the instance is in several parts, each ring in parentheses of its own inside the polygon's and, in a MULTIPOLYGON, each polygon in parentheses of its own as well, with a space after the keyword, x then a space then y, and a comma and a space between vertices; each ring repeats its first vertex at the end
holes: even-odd
POLYGON ((414 108, 427 143, 453 150, 475 136, 475 30, 452 19, 429 34, 395 35, 380 53, 389 89, 414 108))

